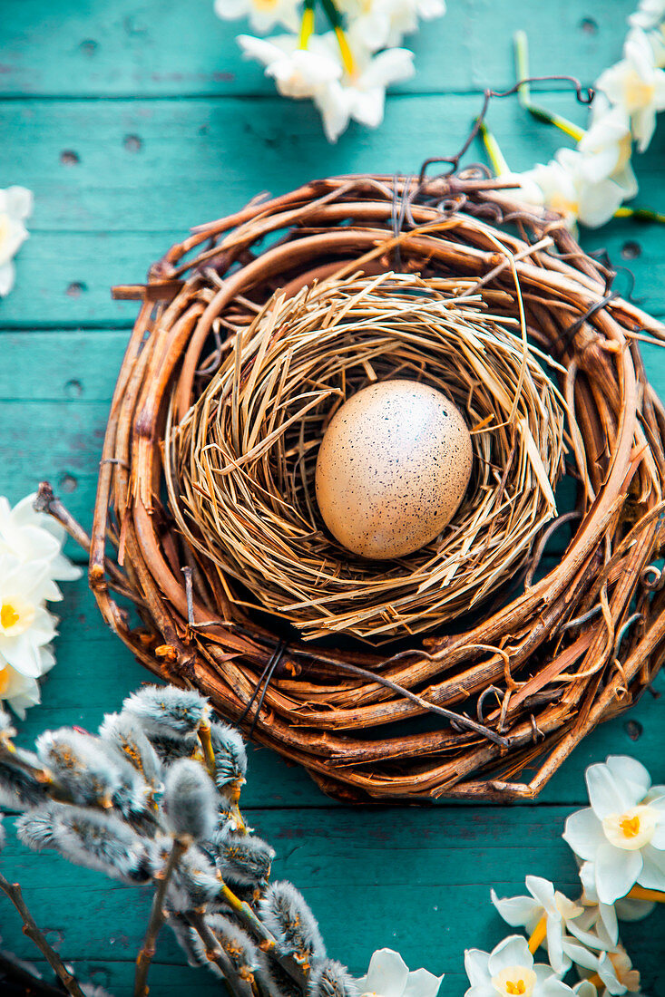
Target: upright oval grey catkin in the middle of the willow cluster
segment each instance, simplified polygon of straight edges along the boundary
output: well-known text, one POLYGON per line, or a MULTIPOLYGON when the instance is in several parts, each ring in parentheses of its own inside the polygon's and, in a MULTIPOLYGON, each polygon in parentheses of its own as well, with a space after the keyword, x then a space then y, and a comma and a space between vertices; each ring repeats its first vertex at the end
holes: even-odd
POLYGON ((164 784, 164 811, 176 834, 206 840, 217 824, 219 796, 206 770, 189 759, 174 762, 164 784))

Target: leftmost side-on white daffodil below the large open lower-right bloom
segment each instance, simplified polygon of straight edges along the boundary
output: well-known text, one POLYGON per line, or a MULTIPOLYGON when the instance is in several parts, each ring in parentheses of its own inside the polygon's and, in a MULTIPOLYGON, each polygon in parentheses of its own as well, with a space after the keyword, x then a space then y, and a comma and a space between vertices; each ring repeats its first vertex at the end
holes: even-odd
POLYGON ((584 908, 555 890, 549 879, 527 875, 525 882, 530 896, 501 899, 492 889, 492 903, 511 927, 526 929, 531 936, 533 948, 544 944, 552 969, 563 974, 572 964, 572 959, 565 950, 566 926, 573 918, 579 917, 584 908))

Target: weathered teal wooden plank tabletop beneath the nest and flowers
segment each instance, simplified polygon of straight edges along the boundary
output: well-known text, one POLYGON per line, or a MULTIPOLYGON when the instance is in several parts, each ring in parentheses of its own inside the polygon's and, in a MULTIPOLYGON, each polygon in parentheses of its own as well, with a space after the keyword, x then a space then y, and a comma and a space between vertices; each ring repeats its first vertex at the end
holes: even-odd
MULTIPOLYGON (((591 83, 619 57, 632 6, 449 0, 446 17, 412 40, 417 75, 389 97, 382 128, 352 127, 331 147, 309 103, 277 98, 259 67, 239 58, 236 26, 215 18, 212 0, 1 0, 0 186, 31 187, 36 206, 16 288, 0 302, 0 494, 21 498, 47 478, 90 520, 135 313, 131 302, 111 300, 111 284, 141 280, 190 225, 260 190, 279 193, 333 172, 411 172, 427 156, 453 152, 482 88, 513 82, 518 27, 528 33, 534 72, 591 83)), ((580 114, 558 87, 543 101, 580 114)), ((561 144, 514 101, 493 106, 490 121, 515 168, 561 144)), ((661 210, 664 150, 661 128, 637 163, 640 203, 661 210)), ((616 221, 583 241, 607 247, 616 263, 628 259, 635 293, 665 313, 662 228, 616 221)), ((665 395, 665 356, 647 351, 647 365, 665 395)), ((44 683, 44 705, 21 725, 26 742, 60 724, 96 728, 147 677, 103 626, 85 581, 66 593, 58 664, 44 683)), ((655 691, 665 691, 662 677, 655 691)), ((489 904, 490 885, 521 892, 533 872, 571 895, 577 888, 560 833, 585 803, 585 766, 628 753, 665 782, 663 702, 647 694, 597 730, 531 805, 350 810, 302 771, 252 749, 244 810, 278 850, 276 876, 303 888, 333 956, 359 973, 375 948, 390 946, 411 967, 445 971, 441 993, 459 997, 464 947, 488 949, 507 933, 489 904)), ((149 895, 28 853, 11 835, 2 861, 82 977, 128 994, 149 895)), ((662 908, 623 931, 647 997, 665 994, 664 933, 662 908)), ((3 898, 0 934, 3 947, 35 960, 3 898)), ((220 992, 214 978, 184 965, 167 931, 151 983, 164 997, 220 992)))

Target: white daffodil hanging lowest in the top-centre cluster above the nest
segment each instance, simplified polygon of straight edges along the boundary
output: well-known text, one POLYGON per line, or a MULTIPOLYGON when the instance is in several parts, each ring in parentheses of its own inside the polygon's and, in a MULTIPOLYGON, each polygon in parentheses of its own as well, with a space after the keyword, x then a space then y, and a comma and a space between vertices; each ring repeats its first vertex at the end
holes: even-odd
MULTIPOLYGON (((337 46, 332 32, 322 36, 329 52, 337 46)), ((383 120, 385 89, 413 75, 413 53, 407 49, 384 49, 376 55, 351 48, 354 71, 343 73, 315 95, 329 142, 336 142, 349 121, 376 128, 383 120)))

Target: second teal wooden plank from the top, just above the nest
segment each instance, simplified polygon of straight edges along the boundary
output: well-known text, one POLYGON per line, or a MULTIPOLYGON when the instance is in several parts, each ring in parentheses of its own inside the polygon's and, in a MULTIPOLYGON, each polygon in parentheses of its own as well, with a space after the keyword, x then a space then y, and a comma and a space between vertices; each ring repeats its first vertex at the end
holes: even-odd
MULTIPOLYGON (((549 103, 585 120, 574 97, 552 95, 549 103)), ((267 188, 280 193, 333 173, 417 171, 425 158, 461 146, 479 108, 477 95, 394 97, 381 130, 352 127, 331 147, 310 102, 17 100, 0 105, 9 137, 0 176, 34 190, 31 229, 59 231, 66 254, 67 233, 184 232, 267 188), (138 151, 127 148, 128 134, 140 139, 138 151)), ((563 144, 514 99, 496 103, 491 123, 513 168, 531 166, 534 150, 543 159, 563 144)), ((647 173, 662 175, 663 136, 641 161, 647 173)))

